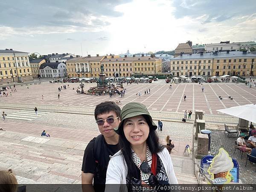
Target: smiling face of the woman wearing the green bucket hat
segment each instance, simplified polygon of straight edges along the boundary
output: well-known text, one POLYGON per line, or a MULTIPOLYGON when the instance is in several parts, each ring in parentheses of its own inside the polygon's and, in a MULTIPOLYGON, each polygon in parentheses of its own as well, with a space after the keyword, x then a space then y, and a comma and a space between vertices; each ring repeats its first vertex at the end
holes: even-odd
POLYGON ((148 138, 149 126, 142 115, 125 120, 123 129, 125 137, 131 143, 131 146, 143 145, 148 138))

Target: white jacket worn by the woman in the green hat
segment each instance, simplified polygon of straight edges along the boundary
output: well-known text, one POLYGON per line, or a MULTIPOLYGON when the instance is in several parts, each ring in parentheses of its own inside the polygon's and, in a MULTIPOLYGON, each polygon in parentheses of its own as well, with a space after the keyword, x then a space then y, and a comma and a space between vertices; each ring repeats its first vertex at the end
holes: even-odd
MULTIPOLYGON (((170 184, 178 184, 178 181, 173 169, 173 165, 172 165, 172 159, 168 150, 166 148, 163 148, 163 151, 160 151, 157 154, 163 162, 163 166, 168 176, 170 184)), ((115 189, 119 188, 120 191, 127 191, 127 188, 126 188, 127 174, 128 174, 127 165, 122 155, 122 151, 120 150, 113 155, 113 157, 108 163, 105 192, 113 192, 113 186, 115 189), (108 184, 124 184, 124 185, 117 186, 117 185, 108 185, 108 184), (126 188, 126 190, 124 188, 126 188)))

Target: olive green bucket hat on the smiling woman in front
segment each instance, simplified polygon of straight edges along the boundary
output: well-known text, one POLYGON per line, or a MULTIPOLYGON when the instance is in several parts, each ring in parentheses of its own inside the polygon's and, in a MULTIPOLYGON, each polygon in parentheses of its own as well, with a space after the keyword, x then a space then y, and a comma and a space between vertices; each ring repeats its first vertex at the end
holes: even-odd
POLYGON ((117 134, 120 134, 120 128, 123 128, 123 123, 125 119, 138 116, 138 115, 146 115, 146 120, 149 123, 148 126, 149 128, 153 128, 154 130, 157 129, 157 125, 153 122, 152 117, 150 116, 148 109, 146 108, 145 105, 141 103, 127 103, 121 111, 121 122, 118 127, 114 128, 117 134))

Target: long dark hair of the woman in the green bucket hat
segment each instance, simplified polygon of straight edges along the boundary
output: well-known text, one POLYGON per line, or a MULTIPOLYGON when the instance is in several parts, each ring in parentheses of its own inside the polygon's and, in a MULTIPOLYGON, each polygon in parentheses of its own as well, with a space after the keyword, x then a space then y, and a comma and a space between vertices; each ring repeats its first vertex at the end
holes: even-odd
MULTIPOLYGON (((146 122, 148 123, 148 126, 149 126, 149 134, 148 134, 148 138, 146 140, 148 148, 152 154, 156 154, 157 152, 162 151, 164 146, 160 145, 159 137, 158 137, 156 131, 154 130, 154 128, 152 128, 153 125, 150 122, 148 116, 143 115, 143 117, 146 119, 146 122)), ((124 123, 123 123, 123 125, 124 125, 124 123)), ((126 165, 127 165, 128 174, 132 173, 133 170, 136 170, 136 165, 132 160, 131 143, 125 137, 123 126, 122 126, 122 128, 120 128, 119 145, 121 147, 122 155, 124 157, 124 161, 125 161, 124 163, 126 163, 126 165)))

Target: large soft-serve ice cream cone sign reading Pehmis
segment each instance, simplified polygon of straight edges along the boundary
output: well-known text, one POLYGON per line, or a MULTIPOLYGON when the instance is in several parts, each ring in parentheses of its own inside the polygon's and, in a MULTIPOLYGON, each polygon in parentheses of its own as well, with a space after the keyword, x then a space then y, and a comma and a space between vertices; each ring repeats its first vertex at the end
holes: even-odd
POLYGON ((229 156, 224 148, 219 149, 219 153, 212 159, 209 166, 208 173, 214 184, 230 183, 231 174, 234 164, 232 158, 229 156))

